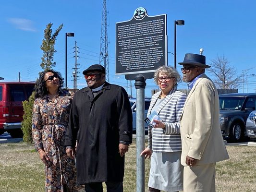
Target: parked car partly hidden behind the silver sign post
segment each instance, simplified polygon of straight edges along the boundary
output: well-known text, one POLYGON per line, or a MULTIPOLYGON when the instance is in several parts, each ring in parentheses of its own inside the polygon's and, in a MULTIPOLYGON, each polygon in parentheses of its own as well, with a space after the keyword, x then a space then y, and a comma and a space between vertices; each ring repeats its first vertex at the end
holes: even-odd
MULTIPOLYGON (((136 132, 136 98, 130 98, 130 104, 133 111, 133 132, 136 132)), ((146 114, 150 105, 151 98, 145 98, 145 112, 144 112, 144 119, 146 119, 146 114)), ((144 123, 145 131, 148 131, 146 122, 144 123)))

